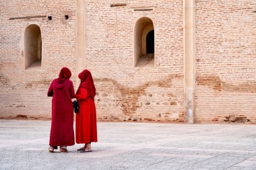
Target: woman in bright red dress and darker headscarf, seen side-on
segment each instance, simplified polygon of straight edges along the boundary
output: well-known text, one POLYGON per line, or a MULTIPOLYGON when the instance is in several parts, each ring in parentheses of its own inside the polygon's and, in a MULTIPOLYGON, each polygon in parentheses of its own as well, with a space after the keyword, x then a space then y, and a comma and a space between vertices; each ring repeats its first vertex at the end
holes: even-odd
POLYGON ((81 83, 75 94, 79 103, 79 113, 75 116, 75 141, 84 144, 82 148, 77 149, 77 151, 84 153, 92 151, 91 142, 98 141, 94 103, 96 89, 90 71, 82 71, 78 78, 81 83))

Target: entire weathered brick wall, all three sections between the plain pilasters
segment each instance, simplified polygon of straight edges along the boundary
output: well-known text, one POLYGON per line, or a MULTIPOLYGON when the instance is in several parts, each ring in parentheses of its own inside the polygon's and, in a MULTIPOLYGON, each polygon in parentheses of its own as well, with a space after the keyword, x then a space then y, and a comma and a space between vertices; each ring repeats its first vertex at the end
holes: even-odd
MULTIPOLYGON (((46 97, 51 81, 61 67, 71 69, 73 82, 77 75, 75 0, 3 0, 0 6, 0 117, 51 118, 46 97), (24 69, 29 24, 40 26, 42 63, 24 69)), ((252 11, 250 0, 196 0, 196 122, 256 122, 252 11)), ((84 13, 81 57, 96 84, 98 119, 183 122, 183 1, 88 0, 84 13), (135 24, 141 17, 154 24, 154 62, 134 67, 135 24)))

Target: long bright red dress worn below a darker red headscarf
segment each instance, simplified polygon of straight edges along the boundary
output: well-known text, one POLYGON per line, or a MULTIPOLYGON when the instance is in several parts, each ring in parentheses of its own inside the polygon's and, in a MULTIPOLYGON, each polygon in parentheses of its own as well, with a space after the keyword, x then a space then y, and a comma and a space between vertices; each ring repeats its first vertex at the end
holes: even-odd
POLYGON ((75 141, 77 143, 97 142, 94 99, 85 88, 80 88, 75 98, 79 103, 79 113, 75 115, 75 141))

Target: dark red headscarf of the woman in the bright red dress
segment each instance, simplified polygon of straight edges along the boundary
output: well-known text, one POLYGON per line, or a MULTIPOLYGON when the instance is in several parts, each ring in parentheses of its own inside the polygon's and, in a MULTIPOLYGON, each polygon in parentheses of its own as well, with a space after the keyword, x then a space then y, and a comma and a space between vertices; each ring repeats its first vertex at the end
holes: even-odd
MULTIPOLYGON (((77 89, 85 88, 87 92, 89 93, 90 97, 94 99, 94 96, 96 95, 96 89, 94 86, 94 80, 92 79, 92 74, 88 70, 84 70, 81 73, 79 73, 78 78, 81 79, 81 83, 77 89)), ((76 92, 77 93, 77 92, 76 92)))

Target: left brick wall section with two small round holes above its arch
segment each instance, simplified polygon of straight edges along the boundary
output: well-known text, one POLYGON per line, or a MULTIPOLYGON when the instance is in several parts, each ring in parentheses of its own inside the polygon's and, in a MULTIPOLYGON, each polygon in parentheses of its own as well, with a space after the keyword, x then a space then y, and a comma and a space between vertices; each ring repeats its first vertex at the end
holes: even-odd
POLYGON ((0 117, 51 118, 51 97, 46 97, 51 81, 64 66, 75 80, 75 0, 2 0, 0 9, 0 117), (9 19, 38 15, 53 19, 9 19), (41 30, 42 65, 25 70, 24 30, 29 24, 41 30))

